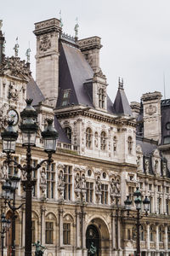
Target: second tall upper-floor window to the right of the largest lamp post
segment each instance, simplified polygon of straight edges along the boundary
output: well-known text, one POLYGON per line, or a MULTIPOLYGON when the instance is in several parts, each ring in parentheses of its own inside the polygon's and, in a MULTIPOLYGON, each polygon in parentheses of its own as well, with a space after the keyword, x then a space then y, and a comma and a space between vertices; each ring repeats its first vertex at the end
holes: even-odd
POLYGON ((71 166, 65 166, 64 170, 64 181, 65 181, 65 192, 64 199, 71 200, 71 166))

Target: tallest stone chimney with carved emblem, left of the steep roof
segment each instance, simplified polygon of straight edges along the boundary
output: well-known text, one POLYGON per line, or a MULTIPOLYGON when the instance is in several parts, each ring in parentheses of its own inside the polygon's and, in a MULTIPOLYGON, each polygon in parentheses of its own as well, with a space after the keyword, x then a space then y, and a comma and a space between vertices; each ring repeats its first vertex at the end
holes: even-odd
POLYGON ((59 33, 60 20, 35 23, 37 37, 36 81, 43 96, 56 106, 59 90, 59 33))

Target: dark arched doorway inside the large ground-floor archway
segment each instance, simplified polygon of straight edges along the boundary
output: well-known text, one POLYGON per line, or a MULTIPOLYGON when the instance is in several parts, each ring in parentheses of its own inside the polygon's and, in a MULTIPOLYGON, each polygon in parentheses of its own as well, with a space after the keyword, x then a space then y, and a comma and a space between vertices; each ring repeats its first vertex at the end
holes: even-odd
POLYGON ((100 238, 99 238, 99 231, 94 226, 94 224, 90 224, 88 226, 88 229, 86 231, 86 247, 89 249, 91 244, 94 243, 94 247, 96 247, 96 256, 99 256, 100 254, 100 238))

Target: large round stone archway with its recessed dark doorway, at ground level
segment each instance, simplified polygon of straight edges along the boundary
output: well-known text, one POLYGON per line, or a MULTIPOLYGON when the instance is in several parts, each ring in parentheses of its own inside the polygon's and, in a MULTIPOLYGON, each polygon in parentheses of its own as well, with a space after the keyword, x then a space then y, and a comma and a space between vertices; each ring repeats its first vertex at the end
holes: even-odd
MULTIPOLYGON (((89 249, 91 243, 97 248, 95 256, 109 255, 110 234, 109 230, 101 218, 94 218, 88 224, 86 230, 86 247, 89 249)), ((89 253, 88 253, 89 255, 89 253)))

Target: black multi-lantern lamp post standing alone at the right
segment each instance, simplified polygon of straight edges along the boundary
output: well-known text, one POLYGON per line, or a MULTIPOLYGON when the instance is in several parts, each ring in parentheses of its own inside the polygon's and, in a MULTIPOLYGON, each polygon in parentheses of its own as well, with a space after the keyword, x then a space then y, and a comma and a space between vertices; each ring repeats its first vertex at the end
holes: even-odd
MULTIPOLYGON (((143 215, 140 214, 142 203, 144 205, 144 212, 145 216, 148 215, 149 207, 150 207, 150 200, 148 199, 147 195, 145 195, 144 201, 141 200, 141 192, 139 191, 139 188, 136 189, 136 191, 133 193, 135 196, 135 206, 137 210, 137 215, 133 216, 133 218, 136 220, 136 230, 137 230, 137 236, 136 236, 136 254, 137 256, 140 256, 140 219, 143 218, 143 215)), ((124 201, 125 208, 127 210, 127 216, 129 216, 129 211, 131 210, 132 201, 129 199, 129 195, 127 195, 126 201, 124 201)))

